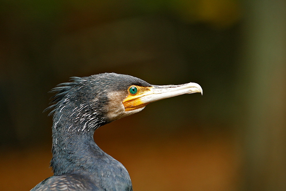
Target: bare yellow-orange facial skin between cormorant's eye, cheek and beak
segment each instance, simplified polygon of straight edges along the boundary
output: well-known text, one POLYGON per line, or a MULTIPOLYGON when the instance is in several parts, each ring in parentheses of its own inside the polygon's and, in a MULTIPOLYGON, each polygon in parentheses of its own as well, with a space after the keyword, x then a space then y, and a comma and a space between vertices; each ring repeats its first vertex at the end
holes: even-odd
MULTIPOLYGON (((128 92, 130 87, 128 88, 128 92)), ((135 86, 135 87, 137 88, 136 94, 131 94, 129 92, 128 96, 122 101, 125 111, 132 111, 134 109, 139 109, 145 107, 148 104, 148 103, 143 103, 140 98, 146 95, 146 93, 150 92, 151 87, 142 87, 142 86, 135 86)))

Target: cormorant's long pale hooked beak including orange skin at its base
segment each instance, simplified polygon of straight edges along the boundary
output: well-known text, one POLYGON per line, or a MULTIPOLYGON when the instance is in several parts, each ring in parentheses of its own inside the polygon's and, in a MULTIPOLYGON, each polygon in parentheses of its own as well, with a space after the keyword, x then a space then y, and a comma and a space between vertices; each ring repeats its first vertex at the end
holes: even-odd
POLYGON ((139 109, 145 107, 148 103, 182 94, 192 94, 196 92, 200 92, 202 94, 202 87, 199 84, 192 82, 180 85, 152 85, 152 87, 148 88, 138 88, 142 91, 139 91, 136 95, 128 95, 122 102, 125 111, 139 109))

